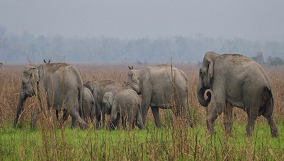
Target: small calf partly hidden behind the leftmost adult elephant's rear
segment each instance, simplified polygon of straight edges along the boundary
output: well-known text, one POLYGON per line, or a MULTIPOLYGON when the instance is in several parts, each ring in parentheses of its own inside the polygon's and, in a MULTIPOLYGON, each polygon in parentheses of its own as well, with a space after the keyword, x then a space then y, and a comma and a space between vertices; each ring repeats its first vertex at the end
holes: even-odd
POLYGON ((95 100, 92 92, 87 87, 83 86, 81 118, 88 123, 89 117, 93 123, 95 118, 95 100))

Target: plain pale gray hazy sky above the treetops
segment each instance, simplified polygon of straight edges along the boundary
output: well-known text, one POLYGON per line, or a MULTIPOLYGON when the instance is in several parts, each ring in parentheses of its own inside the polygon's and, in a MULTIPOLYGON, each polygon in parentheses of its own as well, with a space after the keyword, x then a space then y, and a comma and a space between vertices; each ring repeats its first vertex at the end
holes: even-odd
POLYGON ((284 0, 0 0, 6 33, 284 41, 284 0))

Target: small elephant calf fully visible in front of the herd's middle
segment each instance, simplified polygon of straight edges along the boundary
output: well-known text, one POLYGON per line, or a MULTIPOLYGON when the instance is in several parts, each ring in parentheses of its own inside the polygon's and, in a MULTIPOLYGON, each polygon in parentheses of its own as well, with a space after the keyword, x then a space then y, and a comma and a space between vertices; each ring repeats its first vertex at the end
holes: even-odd
POLYGON ((135 121, 140 129, 144 129, 142 120, 141 103, 137 93, 128 87, 106 92, 103 97, 103 106, 110 112, 110 129, 114 129, 122 120, 122 128, 126 128, 128 121, 129 130, 134 129, 135 121))

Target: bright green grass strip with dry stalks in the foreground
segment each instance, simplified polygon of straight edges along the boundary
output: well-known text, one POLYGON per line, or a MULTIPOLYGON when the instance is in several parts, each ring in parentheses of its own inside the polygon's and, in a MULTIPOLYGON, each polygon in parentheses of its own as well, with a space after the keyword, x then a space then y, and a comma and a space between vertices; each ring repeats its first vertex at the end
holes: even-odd
POLYGON ((155 127, 145 130, 30 129, 1 127, 0 160, 283 160, 283 125, 280 137, 271 138, 266 122, 257 122, 253 137, 245 137, 245 123, 234 122, 233 137, 226 137, 223 124, 216 122, 216 134, 206 137, 206 125, 180 129, 155 127))

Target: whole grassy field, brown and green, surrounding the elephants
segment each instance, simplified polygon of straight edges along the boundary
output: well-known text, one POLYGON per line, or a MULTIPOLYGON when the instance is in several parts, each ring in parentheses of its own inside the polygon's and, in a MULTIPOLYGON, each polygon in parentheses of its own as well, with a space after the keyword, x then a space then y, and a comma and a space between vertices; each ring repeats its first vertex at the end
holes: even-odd
MULTIPOLYGON (((128 65, 137 64, 73 63, 83 81, 126 80, 128 65)), ((274 87, 275 117, 280 137, 271 138, 268 122, 258 117, 254 136, 246 137, 246 113, 234 107, 233 136, 223 132, 223 116, 214 122, 216 134, 206 137, 206 111, 196 97, 199 68, 195 64, 173 63, 189 79, 189 105, 193 128, 180 128, 170 110, 160 110, 163 129, 155 126, 149 111, 145 130, 71 129, 71 117, 58 128, 55 111, 40 117, 37 127, 30 128, 35 97, 24 103, 16 128, 13 121, 25 64, 3 64, 0 68, 0 160, 284 160, 284 67, 265 68, 274 87)))

